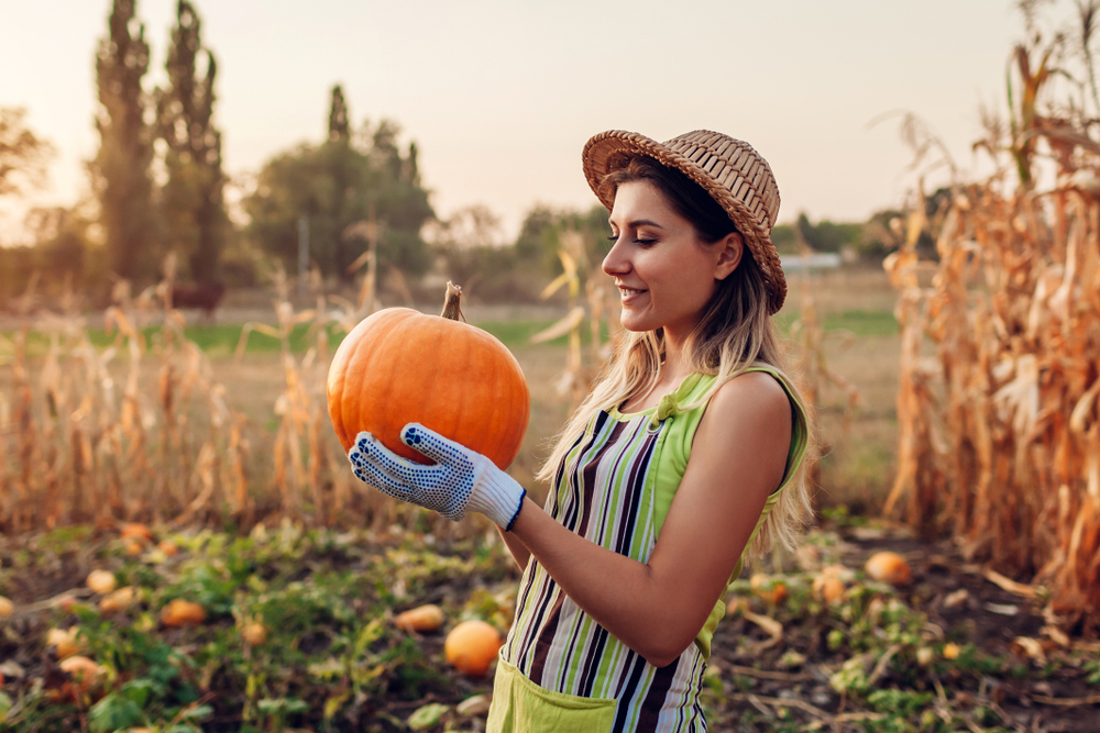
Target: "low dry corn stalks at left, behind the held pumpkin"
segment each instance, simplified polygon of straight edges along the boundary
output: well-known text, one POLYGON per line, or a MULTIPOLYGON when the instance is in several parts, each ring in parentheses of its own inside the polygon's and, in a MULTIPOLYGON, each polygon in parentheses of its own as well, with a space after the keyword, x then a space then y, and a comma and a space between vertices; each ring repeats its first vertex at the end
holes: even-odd
MULTIPOLYGON (((282 344, 273 436, 234 408, 207 355, 185 336, 167 269, 163 282, 138 296, 125 282, 116 287, 105 313, 113 335, 106 349, 91 344, 84 318, 64 303, 62 313, 34 324, 47 340, 44 356, 41 344, 29 353, 30 325, 11 340, 0 336, 12 355, 10 382, 0 388, 0 529, 147 521, 243 531, 284 518, 380 529, 414 519, 413 510, 352 480, 329 426, 329 340, 365 315, 362 309, 320 297, 316 308, 295 312, 280 277, 277 324, 245 324, 238 359, 252 332, 282 344), (300 356, 289 345, 299 324, 308 324, 310 341, 300 356)), ((459 531, 442 524, 443 532, 459 531)))

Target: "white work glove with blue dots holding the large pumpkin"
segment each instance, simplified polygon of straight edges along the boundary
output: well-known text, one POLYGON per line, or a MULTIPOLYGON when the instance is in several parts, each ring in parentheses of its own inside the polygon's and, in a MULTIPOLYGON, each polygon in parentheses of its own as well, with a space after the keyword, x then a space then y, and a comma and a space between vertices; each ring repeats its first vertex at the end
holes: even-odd
POLYGON ((492 460, 424 425, 410 422, 402 442, 436 462, 425 466, 404 458, 367 432, 355 436, 348 452, 361 481, 402 501, 458 521, 466 510, 481 512, 510 531, 527 489, 492 460))

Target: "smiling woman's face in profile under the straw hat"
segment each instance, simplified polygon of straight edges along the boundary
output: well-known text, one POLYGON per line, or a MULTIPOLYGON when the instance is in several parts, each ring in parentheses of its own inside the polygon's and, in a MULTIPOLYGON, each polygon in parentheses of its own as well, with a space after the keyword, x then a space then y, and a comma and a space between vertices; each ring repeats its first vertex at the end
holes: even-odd
POLYGON ((714 244, 648 181, 618 187, 610 215, 614 245, 603 269, 615 280, 623 327, 683 337, 694 329, 717 281, 740 262, 743 243, 730 234, 714 244))

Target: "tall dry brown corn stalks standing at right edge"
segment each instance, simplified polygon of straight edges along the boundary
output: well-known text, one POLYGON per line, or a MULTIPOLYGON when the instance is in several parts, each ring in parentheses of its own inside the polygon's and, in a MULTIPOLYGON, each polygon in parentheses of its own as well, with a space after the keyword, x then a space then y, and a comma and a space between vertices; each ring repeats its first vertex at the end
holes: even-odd
POLYGON ((915 208, 886 263, 902 327, 899 468, 886 509, 903 506, 925 534, 952 534, 966 557, 1033 576, 1052 620, 1096 625, 1100 143, 1082 111, 1094 85, 1093 100, 1081 85, 1080 101, 1040 113, 1060 43, 1015 52, 1019 104, 1010 86, 1010 125, 990 121, 976 146, 997 173, 955 184, 934 212, 915 208), (922 232, 938 262, 919 259, 922 232))

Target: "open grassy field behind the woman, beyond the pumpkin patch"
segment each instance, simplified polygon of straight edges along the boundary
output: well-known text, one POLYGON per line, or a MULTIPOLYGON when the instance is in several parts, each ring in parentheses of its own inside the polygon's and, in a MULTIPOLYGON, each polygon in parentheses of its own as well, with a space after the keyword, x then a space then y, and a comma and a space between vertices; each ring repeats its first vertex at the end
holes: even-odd
MULTIPOLYGON (((784 310, 777 316, 784 331, 800 314, 803 288, 807 288, 817 306, 825 329, 823 346, 829 368, 842 375, 858 392, 858 406, 849 410, 847 396, 826 390, 820 406, 821 435, 825 453, 822 459, 821 503, 845 506, 855 513, 875 511, 884 499, 893 467, 897 420, 897 365, 900 348, 897 321, 892 314, 893 290, 886 275, 878 269, 813 274, 804 280, 792 278, 791 295, 784 310)), ((271 452, 265 447, 278 430, 273 412, 286 375, 279 341, 272 335, 252 332, 246 351, 237 355, 242 325, 246 322, 272 324, 276 320, 271 295, 263 292, 234 293, 220 312, 217 324, 204 323, 197 312, 187 313, 186 337, 200 346, 209 358, 212 378, 224 385, 230 407, 249 420, 253 440, 251 476, 270 473, 262 460, 271 452)), ((426 312, 438 310, 435 304, 418 306, 426 312)), ((494 334, 508 346, 519 360, 531 388, 531 422, 520 454, 512 467, 514 476, 531 485, 531 474, 546 456, 548 442, 554 436, 568 414, 568 404, 552 385, 565 368, 563 336, 546 344, 529 343, 530 336, 556 322, 565 313, 563 306, 486 306, 466 304, 468 320, 494 334)), ((90 343, 106 348, 114 341, 98 314, 85 316, 90 343)), ((0 318, 0 338, 10 340, 21 325, 15 319, 0 318)), ((158 326, 142 329, 152 338, 158 326)), ((342 332, 328 326, 330 349, 339 343, 342 332)), ((301 356, 315 343, 308 324, 295 326, 288 338, 290 351, 301 356)), ((585 341, 586 343, 586 341, 585 341)), ((32 331, 28 351, 42 357, 47 351, 47 336, 32 331)), ((0 341, 0 365, 12 358, 12 348, 0 341)), ((32 367, 33 368, 33 367, 32 367)), ((800 365, 794 362, 798 371, 800 365)), ((152 380, 152 369, 143 378, 152 380)), ((122 377, 121 366, 116 373, 122 377)), ((315 376, 322 378, 319 371, 315 376)), ((0 390, 10 389, 11 373, 0 371, 0 390)), ((152 387, 150 386, 150 389, 152 387)), ((323 385, 312 385, 315 391, 323 385)), ((2 393, 2 392, 0 392, 2 393)), ((336 446, 331 431, 324 438, 336 446)), ((333 448, 334 449, 334 448, 333 448)))

